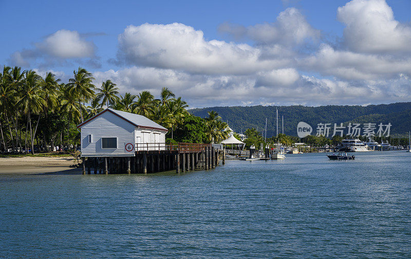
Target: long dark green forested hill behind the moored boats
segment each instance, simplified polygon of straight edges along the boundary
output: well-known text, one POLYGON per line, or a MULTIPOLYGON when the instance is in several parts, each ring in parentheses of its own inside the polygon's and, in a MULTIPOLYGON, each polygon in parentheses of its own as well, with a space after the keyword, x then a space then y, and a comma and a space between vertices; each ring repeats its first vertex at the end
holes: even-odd
MULTIPOLYGON (((275 135, 275 108, 276 106, 232 106, 208 107, 190 109, 189 112, 202 118, 207 112, 214 110, 223 121, 236 132, 244 132, 247 128, 258 128, 263 131, 267 118, 267 137, 275 135)), ((281 133, 281 117, 284 116, 284 133, 296 136, 298 122, 310 124, 315 131, 317 123, 388 123, 391 133, 405 134, 411 130, 411 102, 391 103, 378 105, 327 105, 327 106, 278 106, 278 128, 281 133)), ((408 135, 408 134, 407 134, 408 135)))

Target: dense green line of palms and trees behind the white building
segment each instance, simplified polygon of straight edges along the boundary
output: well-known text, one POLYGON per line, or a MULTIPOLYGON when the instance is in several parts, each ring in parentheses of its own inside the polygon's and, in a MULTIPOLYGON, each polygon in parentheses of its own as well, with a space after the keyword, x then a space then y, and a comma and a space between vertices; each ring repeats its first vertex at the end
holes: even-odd
POLYGON ((199 118, 188 104, 166 87, 158 99, 150 91, 120 95, 116 83, 100 87, 85 68, 73 71, 67 83, 53 73, 4 66, 0 72, 0 151, 49 152, 55 145, 74 149, 80 144, 76 125, 110 107, 145 116, 167 128, 167 141, 210 143, 228 136, 228 125, 215 112, 199 118), (186 122, 186 123, 185 123, 186 122), (176 134, 176 136, 175 136, 176 134), (190 141, 188 141, 190 140, 190 141))

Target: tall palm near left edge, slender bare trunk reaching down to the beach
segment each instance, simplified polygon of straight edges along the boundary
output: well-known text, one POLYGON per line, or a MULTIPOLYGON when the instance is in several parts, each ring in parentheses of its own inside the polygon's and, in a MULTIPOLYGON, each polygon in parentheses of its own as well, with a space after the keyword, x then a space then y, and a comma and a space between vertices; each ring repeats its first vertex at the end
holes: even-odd
POLYGON ((41 112, 43 107, 46 106, 44 100, 44 92, 40 87, 42 78, 37 75, 33 70, 26 71, 24 74, 23 87, 21 90, 21 98, 18 100, 17 105, 23 108, 23 111, 27 114, 27 120, 30 126, 30 139, 31 139, 31 153, 34 155, 34 138, 39 125, 41 112), (37 124, 32 131, 31 126, 31 113, 38 114, 39 118, 37 124))

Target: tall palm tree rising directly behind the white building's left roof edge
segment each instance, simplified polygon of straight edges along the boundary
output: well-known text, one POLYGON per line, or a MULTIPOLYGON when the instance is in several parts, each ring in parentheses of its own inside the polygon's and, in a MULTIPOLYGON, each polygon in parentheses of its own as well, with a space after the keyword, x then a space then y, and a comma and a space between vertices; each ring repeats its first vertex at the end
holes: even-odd
POLYGON ((81 102, 87 102, 95 96, 94 89, 96 87, 92 84, 94 77, 92 77, 92 74, 82 67, 79 67, 78 71, 74 70, 73 73, 74 78, 70 78, 68 80, 67 87, 69 93, 75 96, 79 103, 80 118, 81 122, 83 122, 83 107, 81 102))

